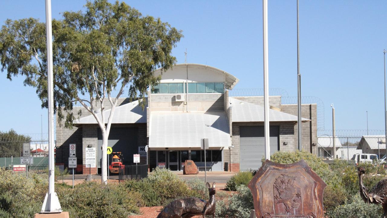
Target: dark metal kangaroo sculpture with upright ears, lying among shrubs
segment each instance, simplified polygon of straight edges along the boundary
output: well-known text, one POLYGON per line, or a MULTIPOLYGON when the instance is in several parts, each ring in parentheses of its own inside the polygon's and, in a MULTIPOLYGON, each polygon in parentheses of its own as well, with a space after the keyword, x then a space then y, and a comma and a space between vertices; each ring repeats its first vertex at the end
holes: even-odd
POLYGON ((168 204, 163 211, 159 213, 157 218, 191 218, 193 216, 202 215, 203 218, 205 215, 211 215, 212 218, 215 218, 215 208, 216 208, 216 199, 215 199, 215 182, 205 184, 208 188, 210 199, 208 202, 205 202, 203 199, 197 197, 187 197, 183 199, 177 199, 168 204))

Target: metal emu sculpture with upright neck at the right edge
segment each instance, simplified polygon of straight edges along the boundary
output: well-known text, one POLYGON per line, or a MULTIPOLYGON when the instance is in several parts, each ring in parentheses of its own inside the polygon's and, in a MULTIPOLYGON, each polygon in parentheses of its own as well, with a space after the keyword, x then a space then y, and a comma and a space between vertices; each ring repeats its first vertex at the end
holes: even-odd
POLYGON ((363 185, 363 175, 365 170, 363 167, 358 168, 359 175, 359 188, 360 188, 360 196, 366 203, 372 204, 382 204, 383 207, 383 218, 386 218, 387 215, 387 179, 382 179, 378 182, 370 192, 363 185))

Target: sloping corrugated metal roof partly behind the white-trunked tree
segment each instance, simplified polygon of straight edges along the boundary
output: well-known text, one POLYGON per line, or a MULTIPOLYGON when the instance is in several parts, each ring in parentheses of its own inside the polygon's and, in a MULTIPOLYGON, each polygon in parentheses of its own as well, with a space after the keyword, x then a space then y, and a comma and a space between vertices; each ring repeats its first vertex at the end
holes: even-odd
MULTIPOLYGON (((109 118, 110 109, 104 111, 105 120, 109 118)), ((101 112, 96 114, 99 119, 102 118, 101 112)), ((74 124, 96 124, 97 121, 93 115, 86 116, 74 121, 74 124)), ((146 109, 142 110, 139 101, 130 102, 116 107, 111 123, 146 123, 146 109)))

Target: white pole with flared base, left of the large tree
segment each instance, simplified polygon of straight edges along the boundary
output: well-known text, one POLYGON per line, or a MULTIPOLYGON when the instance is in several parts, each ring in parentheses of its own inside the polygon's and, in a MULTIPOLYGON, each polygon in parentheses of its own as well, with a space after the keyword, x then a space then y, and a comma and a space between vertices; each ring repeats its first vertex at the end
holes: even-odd
POLYGON ((52 61, 52 29, 51 0, 46 0, 46 45, 47 45, 47 98, 48 98, 48 193, 41 213, 60 213, 62 208, 55 192, 54 163, 54 94, 53 94, 53 61, 52 61))

